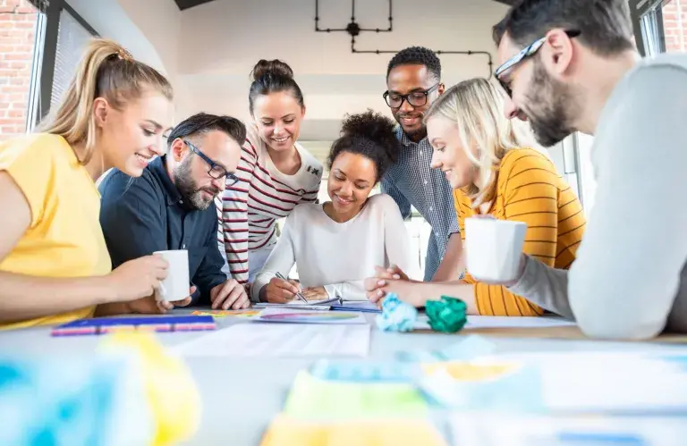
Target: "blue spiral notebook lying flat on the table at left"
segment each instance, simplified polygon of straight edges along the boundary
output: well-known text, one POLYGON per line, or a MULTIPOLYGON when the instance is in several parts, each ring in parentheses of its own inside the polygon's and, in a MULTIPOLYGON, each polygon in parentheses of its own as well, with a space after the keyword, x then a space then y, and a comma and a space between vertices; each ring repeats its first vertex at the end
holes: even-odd
POLYGON ((215 330, 212 316, 137 316, 79 319, 53 328, 53 336, 80 336, 121 331, 198 332, 215 330))

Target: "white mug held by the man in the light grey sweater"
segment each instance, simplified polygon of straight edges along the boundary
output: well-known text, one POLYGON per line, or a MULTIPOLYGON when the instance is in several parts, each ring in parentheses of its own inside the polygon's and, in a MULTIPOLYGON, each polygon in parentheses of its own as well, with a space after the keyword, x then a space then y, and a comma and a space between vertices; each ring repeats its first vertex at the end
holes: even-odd
POLYGON ((484 282, 517 279, 527 224, 494 218, 465 219, 468 273, 484 282))

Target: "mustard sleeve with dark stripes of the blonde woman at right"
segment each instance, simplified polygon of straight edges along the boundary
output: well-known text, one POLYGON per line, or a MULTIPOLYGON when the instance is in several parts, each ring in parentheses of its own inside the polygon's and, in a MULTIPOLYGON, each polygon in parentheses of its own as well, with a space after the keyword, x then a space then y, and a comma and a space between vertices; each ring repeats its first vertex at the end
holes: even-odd
MULTIPOLYGON (((527 223, 523 251, 553 266, 558 233, 558 174, 540 154, 523 150, 502 165, 506 175, 497 199, 503 199, 505 220, 527 223), (513 159, 514 158, 514 159, 513 159)), ((501 183, 501 181, 499 181, 501 183)), ((502 285, 475 283, 475 300, 480 315, 541 316, 542 308, 517 296, 502 285)))

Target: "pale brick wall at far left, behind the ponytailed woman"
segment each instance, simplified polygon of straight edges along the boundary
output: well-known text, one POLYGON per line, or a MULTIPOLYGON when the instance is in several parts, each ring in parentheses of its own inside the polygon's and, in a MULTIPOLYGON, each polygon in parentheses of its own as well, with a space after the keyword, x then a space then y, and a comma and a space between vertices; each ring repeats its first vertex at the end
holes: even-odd
POLYGON ((28 0, 0 0, 0 141, 26 131, 37 21, 28 0))

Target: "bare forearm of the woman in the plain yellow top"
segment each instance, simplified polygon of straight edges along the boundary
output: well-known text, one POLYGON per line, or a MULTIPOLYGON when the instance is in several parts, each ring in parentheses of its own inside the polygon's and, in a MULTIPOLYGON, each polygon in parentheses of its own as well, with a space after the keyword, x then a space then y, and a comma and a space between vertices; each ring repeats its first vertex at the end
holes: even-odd
POLYGON ((56 315, 114 299, 105 276, 56 279, 0 272, 0 322, 56 315))

